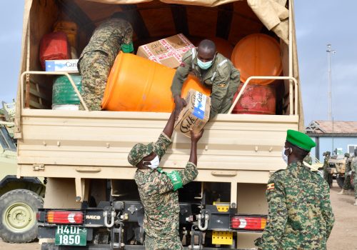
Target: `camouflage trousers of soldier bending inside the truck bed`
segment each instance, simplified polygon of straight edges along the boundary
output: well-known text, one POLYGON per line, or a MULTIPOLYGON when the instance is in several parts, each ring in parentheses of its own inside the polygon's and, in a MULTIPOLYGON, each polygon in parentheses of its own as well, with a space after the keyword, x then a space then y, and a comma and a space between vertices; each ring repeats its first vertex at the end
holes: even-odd
MULTIPOLYGON (((82 76, 82 97, 89 110, 101 110, 101 100, 106 89, 106 80, 111 69, 108 56, 102 51, 89 51, 80 61, 82 76)), ((79 106, 84 110, 84 106, 79 106)))

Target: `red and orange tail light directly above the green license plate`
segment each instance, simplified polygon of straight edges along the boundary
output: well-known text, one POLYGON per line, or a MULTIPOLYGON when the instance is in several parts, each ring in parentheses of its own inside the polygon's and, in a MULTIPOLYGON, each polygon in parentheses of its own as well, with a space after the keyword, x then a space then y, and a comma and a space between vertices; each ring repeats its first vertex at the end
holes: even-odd
POLYGON ((81 211, 48 211, 46 218, 51 224, 83 224, 84 213, 81 211))

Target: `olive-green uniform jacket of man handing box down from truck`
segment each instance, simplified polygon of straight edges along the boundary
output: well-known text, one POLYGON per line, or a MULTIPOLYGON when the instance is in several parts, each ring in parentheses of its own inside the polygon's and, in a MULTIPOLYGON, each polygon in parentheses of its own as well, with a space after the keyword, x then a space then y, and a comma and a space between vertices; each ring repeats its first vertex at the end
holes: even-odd
POLYGON ((181 65, 178 66, 171 85, 173 96, 176 94, 181 96, 183 82, 192 72, 203 85, 212 89, 210 119, 216 114, 227 113, 231 107, 233 96, 241 84, 241 74, 231 61, 219 53, 216 54, 212 66, 203 70, 197 64, 196 51, 194 53, 195 56, 192 56, 192 50, 190 50, 182 56, 181 65))

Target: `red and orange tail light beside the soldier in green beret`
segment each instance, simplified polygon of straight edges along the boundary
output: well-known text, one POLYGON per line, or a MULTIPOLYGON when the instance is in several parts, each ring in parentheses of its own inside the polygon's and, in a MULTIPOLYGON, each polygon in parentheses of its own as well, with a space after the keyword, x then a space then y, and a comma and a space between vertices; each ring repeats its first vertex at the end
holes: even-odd
POLYGON ((266 218, 259 216, 232 216, 231 229, 263 231, 266 227, 266 218))

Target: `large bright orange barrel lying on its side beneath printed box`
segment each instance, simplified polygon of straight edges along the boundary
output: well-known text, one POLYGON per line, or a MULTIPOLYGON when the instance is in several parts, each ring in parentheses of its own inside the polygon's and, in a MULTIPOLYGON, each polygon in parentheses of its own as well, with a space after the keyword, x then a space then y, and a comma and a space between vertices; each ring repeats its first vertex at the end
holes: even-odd
MULTIPOLYGON (((171 112, 174 99, 171 83, 175 69, 134 54, 120 53, 111 68, 101 109, 109 111, 171 112)), ((188 76, 182 96, 189 89, 209 95, 196 77, 188 76)))

